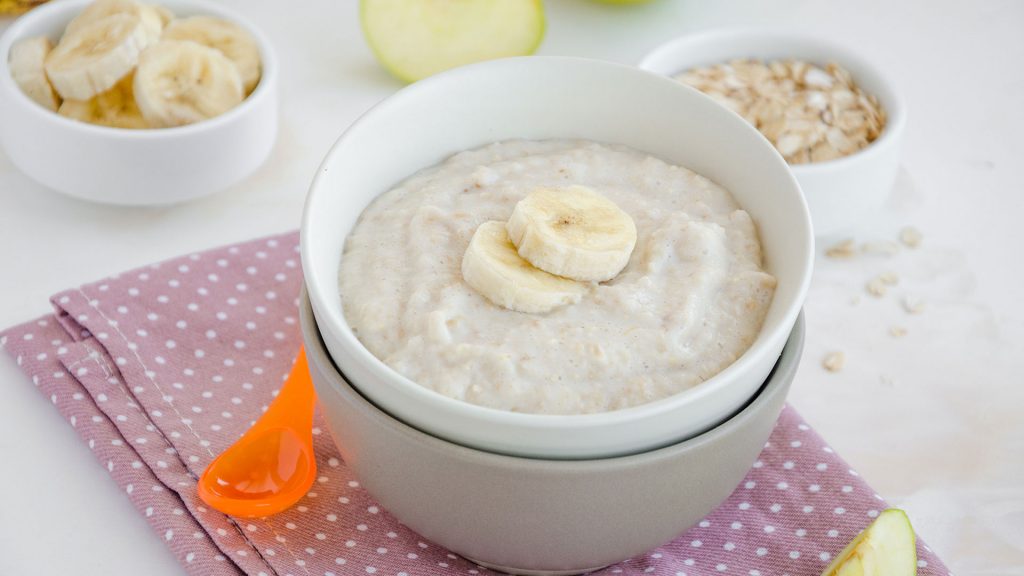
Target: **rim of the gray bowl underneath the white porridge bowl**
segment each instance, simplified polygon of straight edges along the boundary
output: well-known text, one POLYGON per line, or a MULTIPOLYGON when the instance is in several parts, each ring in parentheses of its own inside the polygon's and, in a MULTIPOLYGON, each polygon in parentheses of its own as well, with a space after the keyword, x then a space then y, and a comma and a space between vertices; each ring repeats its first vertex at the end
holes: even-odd
MULTIPOLYGON (((383 422, 382 425, 394 427, 399 434, 410 440, 432 451, 444 451, 462 460, 476 460, 493 466, 505 468, 531 467, 541 471, 578 471, 586 472, 593 469, 607 470, 609 468, 632 467, 638 464, 659 461, 674 458, 681 452, 686 452, 697 446, 714 443, 722 436, 731 434, 735 428, 755 417, 755 413, 763 409, 764 404, 777 394, 785 394, 796 376, 800 367, 800 359, 804 349, 807 337, 807 325, 804 320, 804 312, 801 310, 793 329, 786 338, 785 345, 778 360, 772 367, 771 372, 765 381, 758 387, 745 404, 730 413, 724 420, 714 427, 707 429, 696 436, 681 440, 668 446, 656 447, 641 452, 624 454, 617 456, 605 456, 583 459, 568 458, 540 458, 531 456, 518 456, 500 452, 490 452, 472 446, 466 446, 436 436, 428 431, 421 430, 392 416, 383 408, 374 404, 368 399, 358 387, 348 381, 348 378, 338 369, 338 365, 331 357, 324 342, 324 335, 319 330, 316 318, 313 315, 312 305, 309 300, 307 287, 303 284, 302 293, 299 297, 299 316, 303 341, 305 342, 305 354, 312 355, 315 360, 312 364, 325 366, 331 370, 328 374, 329 385, 335 388, 338 394, 350 396, 359 405, 370 418, 383 422)), ((777 418, 777 415, 776 415, 777 418)))

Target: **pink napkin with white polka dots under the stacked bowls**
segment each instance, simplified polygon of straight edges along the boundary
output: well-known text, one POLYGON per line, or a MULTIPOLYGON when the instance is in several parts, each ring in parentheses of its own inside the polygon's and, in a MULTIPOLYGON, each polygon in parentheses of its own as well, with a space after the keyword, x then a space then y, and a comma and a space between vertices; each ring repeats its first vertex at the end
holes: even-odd
MULTIPOLYGON (((52 297, 53 315, 0 342, 189 574, 486 572, 380 508, 319 427, 319 478, 293 508, 232 519, 197 497, 198 476, 261 414, 298 351, 297 250, 288 234, 67 290, 52 297)), ((885 507, 786 408, 718 509, 601 573, 817 575, 885 507)), ((923 544, 919 557, 919 574, 947 574, 923 544)))

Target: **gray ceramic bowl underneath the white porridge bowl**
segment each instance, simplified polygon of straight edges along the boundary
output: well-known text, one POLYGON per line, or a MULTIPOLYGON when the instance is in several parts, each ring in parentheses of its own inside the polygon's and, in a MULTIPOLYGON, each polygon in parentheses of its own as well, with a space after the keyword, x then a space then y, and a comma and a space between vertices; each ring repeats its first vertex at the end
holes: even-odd
POLYGON ((392 418, 332 363, 304 293, 301 317, 321 409, 362 486, 425 538, 516 574, 587 572, 699 522, 764 447, 804 344, 801 316, 750 404, 705 434, 617 458, 542 460, 466 448, 392 418))

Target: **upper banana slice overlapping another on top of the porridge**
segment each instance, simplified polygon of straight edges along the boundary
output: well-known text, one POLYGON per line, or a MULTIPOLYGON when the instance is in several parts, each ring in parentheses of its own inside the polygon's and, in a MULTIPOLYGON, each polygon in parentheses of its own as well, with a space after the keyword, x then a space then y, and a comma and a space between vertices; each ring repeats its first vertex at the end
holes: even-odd
POLYGON ((614 278, 630 261, 637 242, 633 218, 582 186, 529 193, 512 211, 508 232, 529 263, 589 282, 614 278))

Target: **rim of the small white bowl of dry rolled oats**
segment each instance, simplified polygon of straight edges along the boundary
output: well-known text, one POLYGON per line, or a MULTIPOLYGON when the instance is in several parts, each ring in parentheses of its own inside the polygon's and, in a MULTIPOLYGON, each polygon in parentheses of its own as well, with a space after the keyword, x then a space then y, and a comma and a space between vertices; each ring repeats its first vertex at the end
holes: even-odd
MULTIPOLYGON (((753 41, 766 45, 777 45, 780 48, 779 51, 781 52, 785 52, 786 47, 788 46, 814 46, 816 48, 820 48, 822 55, 828 60, 836 60, 844 67, 846 67, 849 63, 860 70, 867 71, 867 73, 872 76, 872 81, 882 87, 881 93, 876 91, 871 94, 878 97, 880 101, 884 100, 883 104, 886 109, 886 125, 878 138, 869 142, 865 148, 862 148, 848 156, 835 158, 833 160, 824 160, 821 162, 792 164, 790 165, 790 168, 795 173, 812 174, 828 172, 837 168, 842 169, 856 164, 857 162, 873 158, 874 156, 882 154, 880 151, 884 150, 886 146, 893 143, 903 132, 904 127, 906 126, 906 101, 904 100, 902 93, 896 89, 896 85, 892 78, 848 45, 814 33, 767 27, 712 28, 691 34, 677 36, 658 44, 640 58, 637 67, 641 70, 646 70, 675 80, 675 78, 670 76, 668 73, 660 72, 660 67, 655 69, 653 61, 660 58, 672 59, 669 57, 670 54, 679 53, 686 47, 693 47, 697 45, 719 46, 734 43, 737 40, 753 41)), ((735 57, 743 56, 737 53, 735 57)), ((686 67, 683 67, 672 74, 679 74, 686 69, 686 67)))

